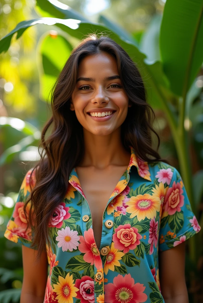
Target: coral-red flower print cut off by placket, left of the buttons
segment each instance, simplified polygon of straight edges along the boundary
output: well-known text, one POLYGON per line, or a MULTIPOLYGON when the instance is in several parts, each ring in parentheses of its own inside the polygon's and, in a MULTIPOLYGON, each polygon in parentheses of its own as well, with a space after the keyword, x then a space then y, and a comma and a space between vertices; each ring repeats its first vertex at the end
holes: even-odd
POLYGON ((80 244, 78 246, 79 251, 85 253, 83 259, 85 262, 95 264, 97 269, 102 268, 102 262, 100 253, 95 243, 93 229, 89 228, 88 231, 84 231, 84 237, 80 237, 80 244))

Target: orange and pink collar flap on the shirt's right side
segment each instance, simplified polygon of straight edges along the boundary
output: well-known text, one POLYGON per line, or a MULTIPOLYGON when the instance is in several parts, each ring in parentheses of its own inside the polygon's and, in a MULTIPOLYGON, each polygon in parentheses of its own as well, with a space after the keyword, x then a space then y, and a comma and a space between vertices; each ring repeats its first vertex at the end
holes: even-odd
POLYGON ((130 168, 134 165, 137 167, 137 172, 140 177, 142 177, 146 180, 152 181, 150 178, 151 174, 150 174, 148 162, 145 162, 145 161, 141 160, 140 158, 138 158, 135 155, 134 148, 132 146, 129 146, 129 147, 130 147, 131 156, 130 156, 130 163, 128 165, 127 172, 129 173, 130 168))

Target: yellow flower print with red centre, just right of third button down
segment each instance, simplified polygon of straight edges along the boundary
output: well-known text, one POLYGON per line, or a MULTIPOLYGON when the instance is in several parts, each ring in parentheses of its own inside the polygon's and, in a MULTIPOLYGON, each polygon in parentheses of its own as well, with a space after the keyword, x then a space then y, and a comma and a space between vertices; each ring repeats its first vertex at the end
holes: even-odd
POLYGON ((111 243, 111 249, 106 257, 105 265, 104 265, 104 272, 105 275, 107 275, 108 270, 114 271, 115 266, 121 266, 120 262, 118 260, 121 260, 121 258, 124 256, 124 253, 121 251, 118 251, 118 249, 114 248, 114 242, 111 243))

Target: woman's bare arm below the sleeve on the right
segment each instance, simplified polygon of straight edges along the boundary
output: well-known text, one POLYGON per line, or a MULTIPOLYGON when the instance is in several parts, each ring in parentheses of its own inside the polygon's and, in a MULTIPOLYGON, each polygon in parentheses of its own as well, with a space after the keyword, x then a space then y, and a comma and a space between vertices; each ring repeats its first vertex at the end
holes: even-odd
POLYGON ((160 286, 165 303, 188 303, 185 242, 159 252, 160 286))

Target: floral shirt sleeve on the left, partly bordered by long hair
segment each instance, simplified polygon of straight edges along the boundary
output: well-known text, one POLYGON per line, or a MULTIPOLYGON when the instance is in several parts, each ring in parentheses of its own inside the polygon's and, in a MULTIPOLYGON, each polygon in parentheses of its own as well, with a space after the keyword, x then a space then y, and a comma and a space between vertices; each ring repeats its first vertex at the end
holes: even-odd
POLYGON ((27 221, 27 219, 29 218, 31 201, 29 201, 29 203, 27 204, 26 216, 24 213, 24 204, 27 201, 28 196, 30 195, 31 189, 35 185, 35 170, 33 172, 32 171, 33 168, 27 171, 23 179, 18 193, 18 198, 13 209, 13 213, 8 221, 4 234, 5 238, 7 238, 8 240, 13 241, 15 243, 21 243, 22 245, 25 245, 27 247, 31 246, 33 238, 33 227, 31 227, 31 224, 28 224, 27 221))

